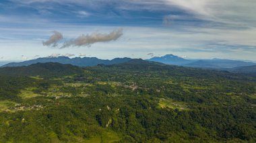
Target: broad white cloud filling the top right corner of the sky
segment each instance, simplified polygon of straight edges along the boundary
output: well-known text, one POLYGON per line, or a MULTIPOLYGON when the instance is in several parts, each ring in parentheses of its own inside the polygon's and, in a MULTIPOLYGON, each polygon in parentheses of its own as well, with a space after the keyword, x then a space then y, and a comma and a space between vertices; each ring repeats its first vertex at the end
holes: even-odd
POLYGON ((254 0, 164 0, 164 2, 193 13, 200 19, 236 26, 255 26, 256 23, 254 0))

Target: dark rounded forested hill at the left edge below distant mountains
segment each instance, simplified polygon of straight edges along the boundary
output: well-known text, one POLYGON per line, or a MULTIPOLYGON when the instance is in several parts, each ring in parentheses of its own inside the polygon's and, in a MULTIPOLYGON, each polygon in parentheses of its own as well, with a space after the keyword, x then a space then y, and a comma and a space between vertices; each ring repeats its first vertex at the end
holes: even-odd
POLYGON ((36 63, 30 66, 3 67, 0 75, 7 76, 40 76, 40 77, 63 77, 83 73, 82 68, 71 64, 57 62, 36 63))

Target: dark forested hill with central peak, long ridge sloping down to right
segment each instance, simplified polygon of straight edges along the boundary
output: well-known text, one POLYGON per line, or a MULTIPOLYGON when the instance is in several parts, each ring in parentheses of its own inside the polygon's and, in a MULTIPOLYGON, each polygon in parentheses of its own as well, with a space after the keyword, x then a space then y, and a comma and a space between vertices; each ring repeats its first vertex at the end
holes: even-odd
MULTIPOLYGON (((117 72, 124 72, 130 71, 131 73, 134 72, 156 72, 162 73, 164 75, 175 76, 175 77, 197 77, 197 78, 219 78, 222 77, 224 79, 236 79, 236 80, 243 80, 243 79, 251 79, 255 81, 256 79, 252 79, 247 75, 241 75, 240 73, 230 73, 226 70, 211 70, 211 69, 203 69, 203 68, 190 68, 186 66, 175 66, 169 64, 163 64, 161 62, 152 62, 148 60, 142 59, 133 59, 129 60, 128 62, 124 62, 121 64, 112 64, 112 65, 104 65, 101 64, 98 67, 101 70, 113 70, 115 73, 117 72)), ((88 67, 90 69, 96 69, 97 66, 88 67)))

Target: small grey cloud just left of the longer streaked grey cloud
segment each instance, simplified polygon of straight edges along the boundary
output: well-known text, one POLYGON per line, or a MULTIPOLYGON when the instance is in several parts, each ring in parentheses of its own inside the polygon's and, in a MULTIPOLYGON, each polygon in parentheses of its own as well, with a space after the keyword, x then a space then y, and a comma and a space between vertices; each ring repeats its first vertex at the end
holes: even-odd
POLYGON ((59 40, 62 40, 63 36, 60 32, 53 31, 53 35, 49 38, 49 40, 43 41, 42 44, 44 46, 57 47, 59 40))

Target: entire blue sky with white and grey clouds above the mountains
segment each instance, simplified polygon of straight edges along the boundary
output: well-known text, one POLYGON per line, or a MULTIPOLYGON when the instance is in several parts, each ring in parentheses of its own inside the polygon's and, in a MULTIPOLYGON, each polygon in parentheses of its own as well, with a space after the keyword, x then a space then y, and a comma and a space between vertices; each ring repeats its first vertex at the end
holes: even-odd
POLYGON ((256 61, 255 0, 1 0, 0 60, 256 61))

